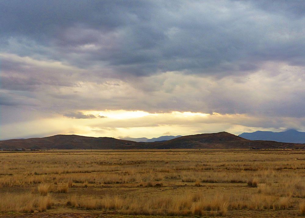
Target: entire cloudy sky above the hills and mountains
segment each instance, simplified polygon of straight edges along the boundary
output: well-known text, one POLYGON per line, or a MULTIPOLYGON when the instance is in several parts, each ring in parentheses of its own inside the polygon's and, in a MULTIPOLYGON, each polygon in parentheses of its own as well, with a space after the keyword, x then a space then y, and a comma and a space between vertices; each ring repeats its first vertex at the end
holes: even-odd
POLYGON ((0 140, 305 131, 302 0, 0 0, 0 140))

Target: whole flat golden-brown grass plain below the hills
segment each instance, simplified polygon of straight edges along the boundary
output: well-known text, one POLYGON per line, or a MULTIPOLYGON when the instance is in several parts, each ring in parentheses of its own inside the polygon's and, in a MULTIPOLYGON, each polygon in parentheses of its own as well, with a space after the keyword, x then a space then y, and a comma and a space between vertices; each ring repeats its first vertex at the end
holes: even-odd
POLYGON ((0 153, 0 217, 302 217, 302 150, 0 153))

